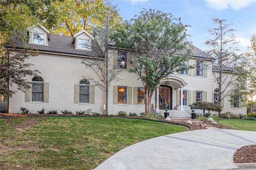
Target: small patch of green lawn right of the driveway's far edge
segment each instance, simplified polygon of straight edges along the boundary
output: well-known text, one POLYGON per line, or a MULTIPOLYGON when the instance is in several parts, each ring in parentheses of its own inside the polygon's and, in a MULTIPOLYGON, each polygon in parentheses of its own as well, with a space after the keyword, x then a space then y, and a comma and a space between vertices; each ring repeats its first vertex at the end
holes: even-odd
POLYGON ((256 131, 256 121, 244 119, 220 119, 218 123, 238 130, 256 131))

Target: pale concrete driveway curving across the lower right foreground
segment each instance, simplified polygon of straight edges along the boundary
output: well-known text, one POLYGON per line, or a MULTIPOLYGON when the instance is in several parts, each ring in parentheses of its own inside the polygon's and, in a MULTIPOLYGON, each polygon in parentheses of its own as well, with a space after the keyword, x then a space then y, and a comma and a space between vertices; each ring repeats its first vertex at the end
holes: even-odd
POLYGON ((256 132, 203 129, 169 134, 128 146, 95 170, 227 170, 256 169, 233 163, 242 146, 256 144, 256 132))

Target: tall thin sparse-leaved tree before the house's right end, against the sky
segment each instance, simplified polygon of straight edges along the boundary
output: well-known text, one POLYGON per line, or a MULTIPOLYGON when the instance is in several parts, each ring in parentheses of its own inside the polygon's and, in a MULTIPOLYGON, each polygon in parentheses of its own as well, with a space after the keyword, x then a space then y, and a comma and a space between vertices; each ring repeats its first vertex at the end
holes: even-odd
MULTIPOLYGON (((217 27, 208 29, 212 39, 206 41, 204 44, 210 48, 207 54, 212 55, 215 59, 212 67, 209 68, 212 69, 212 76, 214 77, 214 82, 217 84, 216 88, 218 88, 218 99, 216 103, 220 106, 221 101, 226 96, 230 96, 231 103, 234 103, 238 97, 242 103, 245 103, 245 70, 238 65, 240 56, 236 55, 231 58, 231 52, 238 50, 236 49, 238 42, 234 34, 235 30, 231 28, 232 24, 227 24, 227 20, 214 18, 212 21, 217 27)), ((220 112, 218 111, 219 116, 221 114, 220 112)))

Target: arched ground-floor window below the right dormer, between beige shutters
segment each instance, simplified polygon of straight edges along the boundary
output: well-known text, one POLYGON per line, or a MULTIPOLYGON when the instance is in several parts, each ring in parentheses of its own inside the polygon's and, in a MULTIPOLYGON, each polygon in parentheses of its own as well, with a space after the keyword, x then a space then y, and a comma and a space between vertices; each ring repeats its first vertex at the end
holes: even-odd
POLYGON ((86 79, 79 83, 79 103, 90 103, 90 83, 86 79))

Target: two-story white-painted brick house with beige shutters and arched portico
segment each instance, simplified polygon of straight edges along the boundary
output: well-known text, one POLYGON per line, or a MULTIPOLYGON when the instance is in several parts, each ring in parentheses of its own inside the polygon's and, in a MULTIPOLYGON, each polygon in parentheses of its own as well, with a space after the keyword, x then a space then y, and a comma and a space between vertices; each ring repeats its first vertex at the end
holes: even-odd
MULTIPOLYGON (((57 110, 61 113, 68 110, 74 114, 76 111, 92 109, 94 113, 103 114, 105 91, 86 79, 88 75, 97 79, 97 75, 81 63, 82 60, 104 57, 103 49, 98 45, 100 42, 95 39, 96 35, 92 36, 86 30, 74 36, 50 34, 42 25, 32 26, 28 34, 28 44, 17 40, 16 50, 22 49, 24 45, 37 49, 38 56, 31 57, 27 62, 33 63, 30 68, 38 69, 40 74, 38 77, 26 77, 31 81, 31 89, 25 93, 17 91, 10 98, 9 113, 21 113, 20 107, 25 107, 31 113, 44 108, 46 112, 57 110)), ((202 50, 194 46, 192 52, 193 59, 185 61, 185 64, 196 67, 162 79, 152 98, 153 112, 163 114, 164 104, 167 103, 168 112, 190 117, 189 104, 192 102, 214 102, 217 85, 211 77, 211 69, 204 67, 211 65, 214 58, 204 55, 202 50)), ((129 52, 111 45, 109 53, 114 53, 110 66, 117 61, 117 69, 122 69, 119 75, 122 81, 112 82, 108 90, 108 114, 116 115, 118 111, 126 111, 140 115, 145 108, 145 91, 139 77, 128 72, 129 52)), ((246 108, 232 107, 228 100, 228 97, 224 99, 222 112, 246 114, 246 108)))

